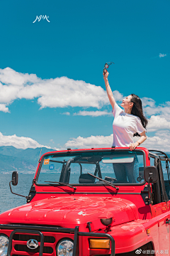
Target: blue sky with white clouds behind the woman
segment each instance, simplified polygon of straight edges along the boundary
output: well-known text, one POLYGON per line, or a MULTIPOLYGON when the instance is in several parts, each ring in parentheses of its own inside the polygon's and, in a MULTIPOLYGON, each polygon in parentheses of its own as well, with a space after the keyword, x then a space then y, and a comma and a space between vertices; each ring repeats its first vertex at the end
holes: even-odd
POLYGON ((118 103, 142 98, 146 146, 169 144, 169 1, 6 0, 0 10, 0 145, 112 144, 108 61, 118 103))

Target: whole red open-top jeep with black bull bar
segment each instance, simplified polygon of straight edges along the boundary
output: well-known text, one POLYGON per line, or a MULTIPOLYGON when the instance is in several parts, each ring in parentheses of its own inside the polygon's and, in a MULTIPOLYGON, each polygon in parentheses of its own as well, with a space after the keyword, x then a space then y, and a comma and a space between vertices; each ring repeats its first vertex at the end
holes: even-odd
POLYGON ((26 198, 0 215, 0 256, 169 255, 169 155, 162 151, 46 153, 26 198))

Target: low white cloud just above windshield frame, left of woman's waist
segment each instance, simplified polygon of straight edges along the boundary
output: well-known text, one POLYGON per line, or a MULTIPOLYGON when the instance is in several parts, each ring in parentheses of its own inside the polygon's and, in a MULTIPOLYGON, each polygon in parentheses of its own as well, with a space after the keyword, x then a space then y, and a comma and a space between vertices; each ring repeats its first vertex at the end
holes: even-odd
POLYGON ((113 134, 110 136, 93 136, 91 137, 77 137, 72 138, 69 140, 66 144, 64 144, 64 147, 70 147, 71 149, 89 149, 91 147, 94 148, 103 148, 103 147, 111 147, 113 144, 113 134))

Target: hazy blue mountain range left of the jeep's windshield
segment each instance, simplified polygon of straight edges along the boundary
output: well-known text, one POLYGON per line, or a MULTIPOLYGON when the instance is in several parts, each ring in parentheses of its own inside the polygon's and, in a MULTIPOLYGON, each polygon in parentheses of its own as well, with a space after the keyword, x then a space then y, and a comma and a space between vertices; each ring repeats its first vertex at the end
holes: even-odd
MULTIPOLYGON (((0 174, 11 174, 12 171, 33 174, 37 168, 41 148, 16 149, 14 146, 0 146, 0 174)), ((42 147, 41 156, 55 151, 42 147)))

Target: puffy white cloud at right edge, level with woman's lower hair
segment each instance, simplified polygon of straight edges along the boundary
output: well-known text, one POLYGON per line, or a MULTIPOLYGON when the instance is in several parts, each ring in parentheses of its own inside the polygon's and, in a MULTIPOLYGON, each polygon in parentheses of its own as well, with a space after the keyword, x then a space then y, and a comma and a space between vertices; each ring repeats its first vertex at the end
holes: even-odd
POLYGON ((160 129, 170 129, 170 122, 166 121, 164 117, 152 115, 149 119, 147 132, 156 132, 160 129))

